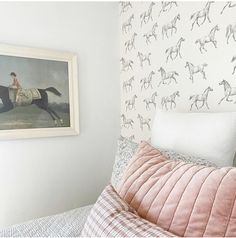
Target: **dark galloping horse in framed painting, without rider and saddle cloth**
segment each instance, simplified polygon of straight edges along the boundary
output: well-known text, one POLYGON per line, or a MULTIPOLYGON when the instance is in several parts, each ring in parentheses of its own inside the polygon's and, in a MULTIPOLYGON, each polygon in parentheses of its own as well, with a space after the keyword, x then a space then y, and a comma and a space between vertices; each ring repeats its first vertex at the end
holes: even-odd
MULTIPOLYGON (((36 105, 38 108, 46 111, 51 116, 51 118, 54 121, 55 126, 58 125, 57 120, 59 120, 59 123, 62 125, 63 124, 62 118, 51 108, 51 106, 49 106, 47 92, 51 92, 59 97, 61 96, 61 93, 54 87, 49 87, 46 89, 37 89, 37 90, 40 94, 40 98, 32 99, 31 102, 25 106, 29 106, 32 104, 36 105)), ((0 108, 0 113, 8 112, 15 108, 15 106, 11 100, 9 91, 10 91, 9 87, 0 85, 0 99, 2 100, 2 103, 3 103, 3 107, 0 108)))

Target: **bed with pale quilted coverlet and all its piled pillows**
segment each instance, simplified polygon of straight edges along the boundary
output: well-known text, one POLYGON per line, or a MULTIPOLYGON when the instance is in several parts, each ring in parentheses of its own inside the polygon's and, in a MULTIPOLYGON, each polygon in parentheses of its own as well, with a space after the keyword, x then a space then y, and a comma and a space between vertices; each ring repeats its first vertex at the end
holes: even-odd
POLYGON ((14 225, 0 236, 236 237, 235 114, 158 112, 151 141, 121 136, 117 147, 111 184, 95 205, 14 225))

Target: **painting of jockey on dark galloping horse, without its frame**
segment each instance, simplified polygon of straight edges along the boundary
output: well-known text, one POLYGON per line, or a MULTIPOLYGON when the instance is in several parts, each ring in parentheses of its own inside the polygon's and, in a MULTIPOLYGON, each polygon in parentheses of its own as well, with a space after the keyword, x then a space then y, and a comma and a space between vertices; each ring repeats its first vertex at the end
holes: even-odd
POLYGON ((68 63, 0 55, 0 130, 69 127, 68 63))

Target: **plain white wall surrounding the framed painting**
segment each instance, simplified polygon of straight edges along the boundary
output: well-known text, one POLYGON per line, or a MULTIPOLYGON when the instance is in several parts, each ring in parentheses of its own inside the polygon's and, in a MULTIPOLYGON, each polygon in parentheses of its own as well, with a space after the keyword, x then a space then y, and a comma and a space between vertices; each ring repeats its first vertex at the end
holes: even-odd
MULTIPOLYGON (((3 43, 79 56, 78 137, 0 142, 0 227, 95 201, 119 133, 116 3, 0 3, 3 43)), ((0 72, 1 74, 1 72, 0 72)))

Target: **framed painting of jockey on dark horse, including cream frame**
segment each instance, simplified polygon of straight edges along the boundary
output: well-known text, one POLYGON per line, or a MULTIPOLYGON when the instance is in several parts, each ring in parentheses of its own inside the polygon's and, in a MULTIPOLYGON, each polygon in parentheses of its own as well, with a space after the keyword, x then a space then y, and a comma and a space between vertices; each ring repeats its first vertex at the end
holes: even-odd
POLYGON ((0 44, 0 139, 77 135, 77 56, 0 44))

